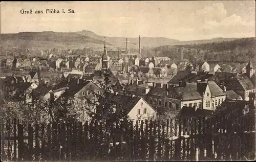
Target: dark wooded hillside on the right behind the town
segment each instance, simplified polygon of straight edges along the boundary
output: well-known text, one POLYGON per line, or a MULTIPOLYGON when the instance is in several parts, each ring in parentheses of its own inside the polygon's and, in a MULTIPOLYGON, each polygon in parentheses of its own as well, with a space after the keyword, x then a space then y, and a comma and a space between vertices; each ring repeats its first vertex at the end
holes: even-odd
POLYGON ((149 57, 167 56, 171 59, 181 59, 181 49, 184 59, 194 61, 248 62, 251 60, 254 62, 255 60, 255 38, 204 44, 164 45, 153 48, 146 53, 149 57))

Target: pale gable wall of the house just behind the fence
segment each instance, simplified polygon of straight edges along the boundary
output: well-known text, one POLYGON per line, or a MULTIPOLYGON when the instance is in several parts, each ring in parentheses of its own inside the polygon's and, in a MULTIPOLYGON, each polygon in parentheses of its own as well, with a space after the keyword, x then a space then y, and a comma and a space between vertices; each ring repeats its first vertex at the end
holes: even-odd
POLYGON ((140 99, 134 108, 128 113, 131 120, 137 120, 138 109, 140 109, 140 114, 142 115, 142 120, 148 120, 148 118, 156 118, 156 111, 143 99, 140 99), (141 104, 143 103, 143 104, 141 104), (146 113, 143 113, 144 108, 146 108, 146 113))

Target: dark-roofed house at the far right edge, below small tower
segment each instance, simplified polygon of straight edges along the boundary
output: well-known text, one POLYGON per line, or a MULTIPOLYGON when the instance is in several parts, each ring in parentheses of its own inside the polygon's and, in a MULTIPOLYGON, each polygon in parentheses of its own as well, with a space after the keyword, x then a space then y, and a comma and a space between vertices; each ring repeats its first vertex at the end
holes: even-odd
POLYGON ((249 92, 255 92, 254 85, 245 73, 231 77, 226 84, 226 88, 227 90, 233 90, 246 101, 249 100, 249 92))

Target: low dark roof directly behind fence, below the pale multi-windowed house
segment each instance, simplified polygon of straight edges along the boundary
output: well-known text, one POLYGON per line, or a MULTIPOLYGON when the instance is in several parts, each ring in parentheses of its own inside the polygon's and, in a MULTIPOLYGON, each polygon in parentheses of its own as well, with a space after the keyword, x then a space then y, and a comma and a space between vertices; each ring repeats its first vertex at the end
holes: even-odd
POLYGON ((202 108, 195 108, 195 107, 186 107, 183 106, 180 112, 177 115, 178 119, 181 118, 200 118, 206 117, 212 114, 212 110, 202 109, 202 108))

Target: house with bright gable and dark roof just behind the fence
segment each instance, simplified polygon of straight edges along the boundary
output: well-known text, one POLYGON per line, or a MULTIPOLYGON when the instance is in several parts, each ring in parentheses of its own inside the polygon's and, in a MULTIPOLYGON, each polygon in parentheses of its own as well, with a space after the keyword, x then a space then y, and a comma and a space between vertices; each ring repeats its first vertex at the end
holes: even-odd
POLYGON ((116 113, 120 113, 125 109, 129 118, 136 120, 154 120, 157 112, 143 98, 133 96, 125 96, 121 94, 112 94, 111 101, 115 104, 116 113))

